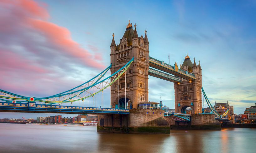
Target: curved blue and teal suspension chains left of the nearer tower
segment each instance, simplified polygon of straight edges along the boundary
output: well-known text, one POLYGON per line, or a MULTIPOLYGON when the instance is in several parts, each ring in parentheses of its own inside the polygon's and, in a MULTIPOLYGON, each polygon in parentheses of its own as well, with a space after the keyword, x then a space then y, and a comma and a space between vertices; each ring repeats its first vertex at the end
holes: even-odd
POLYGON ((108 86, 112 85, 116 80, 121 77, 128 67, 133 62, 134 57, 122 68, 120 68, 117 72, 113 73, 112 75, 104 78, 104 75, 110 70, 111 66, 107 67, 104 71, 99 73, 97 76, 93 77, 91 80, 76 86, 68 91, 61 92, 59 94, 48 96, 48 97, 31 97, 31 96, 21 96, 18 94, 14 94, 8 91, 4 91, 0 89, 0 101, 5 102, 16 102, 16 103, 23 103, 23 102, 44 102, 49 104, 54 103, 67 103, 67 102, 75 102, 84 100, 88 97, 93 97, 97 93, 105 90, 108 86))

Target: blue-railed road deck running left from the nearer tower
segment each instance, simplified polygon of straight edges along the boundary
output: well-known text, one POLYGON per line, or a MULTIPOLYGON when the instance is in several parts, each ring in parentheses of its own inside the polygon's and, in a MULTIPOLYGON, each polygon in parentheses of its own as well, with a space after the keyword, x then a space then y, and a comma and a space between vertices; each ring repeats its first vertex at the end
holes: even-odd
POLYGON ((81 106, 57 106, 28 103, 0 102, 1 112, 29 112, 29 113, 67 113, 67 114, 129 114, 127 109, 81 107, 81 106), (33 106, 34 104, 34 106, 33 106))

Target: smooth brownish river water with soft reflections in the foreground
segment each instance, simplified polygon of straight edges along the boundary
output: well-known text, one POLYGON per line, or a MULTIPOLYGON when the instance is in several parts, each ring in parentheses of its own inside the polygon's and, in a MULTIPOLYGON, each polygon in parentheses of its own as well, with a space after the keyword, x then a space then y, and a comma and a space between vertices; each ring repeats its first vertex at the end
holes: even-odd
POLYGON ((170 135, 97 133, 79 125, 0 124, 0 152, 252 152, 256 128, 172 130, 170 135))

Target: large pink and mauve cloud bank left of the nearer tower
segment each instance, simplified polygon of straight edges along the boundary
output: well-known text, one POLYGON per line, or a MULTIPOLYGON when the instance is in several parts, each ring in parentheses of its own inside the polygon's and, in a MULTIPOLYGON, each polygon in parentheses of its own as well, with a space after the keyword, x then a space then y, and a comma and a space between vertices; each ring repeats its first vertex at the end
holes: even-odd
POLYGON ((33 0, 0 2, 1 89, 52 95, 94 75, 87 70, 106 67, 97 47, 82 48, 67 28, 49 21, 46 7, 33 0))

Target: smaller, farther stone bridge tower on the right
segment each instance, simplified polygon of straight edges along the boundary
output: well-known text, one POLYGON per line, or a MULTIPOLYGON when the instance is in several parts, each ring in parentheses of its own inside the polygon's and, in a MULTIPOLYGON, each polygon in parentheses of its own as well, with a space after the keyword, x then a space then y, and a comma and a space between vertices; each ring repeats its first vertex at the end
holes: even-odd
POLYGON ((200 61, 196 65, 192 64, 190 57, 187 55, 180 65, 181 69, 195 75, 196 80, 181 79, 180 83, 174 83, 175 91, 175 112, 198 114, 202 112, 202 69, 200 61), (191 110, 186 108, 191 107, 191 110), (189 112, 190 111, 190 112, 189 112))

